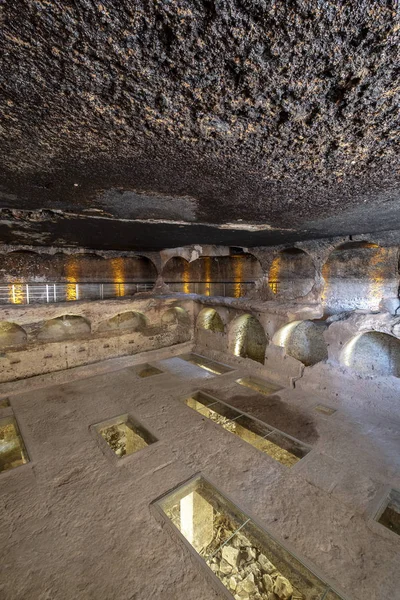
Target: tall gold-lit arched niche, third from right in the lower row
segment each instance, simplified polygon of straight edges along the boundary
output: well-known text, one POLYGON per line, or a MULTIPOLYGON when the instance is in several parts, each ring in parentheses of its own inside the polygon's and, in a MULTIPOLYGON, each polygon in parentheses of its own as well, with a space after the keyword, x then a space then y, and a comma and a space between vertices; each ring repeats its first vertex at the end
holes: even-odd
POLYGON ((229 328, 229 348, 235 356, 251 358, 261 364, 265 361, 268 338, 258 319, 241 315, 229 328))

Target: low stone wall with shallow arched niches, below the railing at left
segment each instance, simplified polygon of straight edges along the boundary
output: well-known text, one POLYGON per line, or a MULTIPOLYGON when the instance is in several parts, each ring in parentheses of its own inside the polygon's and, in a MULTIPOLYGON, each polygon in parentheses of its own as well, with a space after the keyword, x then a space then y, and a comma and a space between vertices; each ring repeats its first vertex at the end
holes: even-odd
POLYGON ((187 342, 193 303, 174 298, 0 308, 0 382, 187 342))

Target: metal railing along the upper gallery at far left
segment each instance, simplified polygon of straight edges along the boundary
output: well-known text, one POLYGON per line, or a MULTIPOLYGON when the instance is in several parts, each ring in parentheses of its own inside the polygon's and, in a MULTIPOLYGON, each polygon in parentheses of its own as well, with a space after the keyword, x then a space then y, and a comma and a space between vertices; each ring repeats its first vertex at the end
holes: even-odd
POLYGON ((0 285, 0 304, 46 304, 76 300, 105 300, 148 292, 154 282, 9 283, 0 285))

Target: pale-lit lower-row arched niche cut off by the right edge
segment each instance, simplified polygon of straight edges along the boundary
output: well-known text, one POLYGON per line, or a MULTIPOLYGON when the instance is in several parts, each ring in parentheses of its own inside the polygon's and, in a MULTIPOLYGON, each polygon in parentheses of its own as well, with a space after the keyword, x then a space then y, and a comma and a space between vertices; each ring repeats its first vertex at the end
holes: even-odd
POLYGON ((400 341, 388 333, 360 333, 347 342, 340 362, 362 375, 400 377, 400 341))

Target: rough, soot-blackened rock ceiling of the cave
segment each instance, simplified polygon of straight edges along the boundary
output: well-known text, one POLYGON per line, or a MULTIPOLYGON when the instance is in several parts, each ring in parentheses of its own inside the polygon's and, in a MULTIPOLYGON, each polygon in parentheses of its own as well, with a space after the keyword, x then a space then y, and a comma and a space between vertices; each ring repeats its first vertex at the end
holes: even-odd
POLYGON ((0 241, 400 227, 398 3, 5 0, 0 241))

